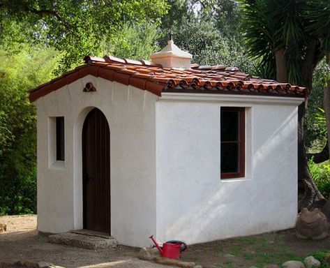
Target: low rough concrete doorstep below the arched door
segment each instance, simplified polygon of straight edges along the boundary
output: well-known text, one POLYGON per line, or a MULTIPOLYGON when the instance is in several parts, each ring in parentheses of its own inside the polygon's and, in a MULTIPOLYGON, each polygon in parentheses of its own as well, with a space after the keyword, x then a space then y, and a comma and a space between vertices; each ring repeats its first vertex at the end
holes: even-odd
POLYGON ((92 250, 115 248, 118 244, 116 239, 107 234, 93 234, 92 231, 87 230, 52 234, 48 239, 52 244, 62 244, 92 250))

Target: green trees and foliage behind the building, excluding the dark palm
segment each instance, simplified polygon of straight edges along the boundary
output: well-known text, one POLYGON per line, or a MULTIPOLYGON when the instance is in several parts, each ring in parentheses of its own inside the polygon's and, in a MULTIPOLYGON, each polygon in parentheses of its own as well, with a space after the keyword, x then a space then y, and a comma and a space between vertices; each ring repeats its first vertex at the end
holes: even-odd
MULTIPOLYGON (((272 63, 248 57, 243 2, 0 0, 0 215, 36 213, 36 108, 27 90, 82 64, 85 55, 149 59, 172 31, 174 42, 193 54, 194 63, 237 66, 273 78, 272 63)), ((327 80, 327 64, 320 61, 305 121, 311 151, 327 142, 326 126, 320 124, 324 115, 318 109, 327 80)), ((327 197, 329 166, 310 162, 327 197)))

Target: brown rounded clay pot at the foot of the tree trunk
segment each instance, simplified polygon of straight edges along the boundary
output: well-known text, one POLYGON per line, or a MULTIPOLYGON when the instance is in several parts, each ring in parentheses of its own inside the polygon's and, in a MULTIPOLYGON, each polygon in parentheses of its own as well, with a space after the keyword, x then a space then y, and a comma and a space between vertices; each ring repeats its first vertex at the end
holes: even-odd
POLYGON ((301 239, 325 239, 329 234, 327 217, 319 209, 309 211, 304 207, 298 214, 296 231, 301 239))

